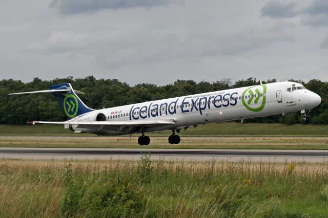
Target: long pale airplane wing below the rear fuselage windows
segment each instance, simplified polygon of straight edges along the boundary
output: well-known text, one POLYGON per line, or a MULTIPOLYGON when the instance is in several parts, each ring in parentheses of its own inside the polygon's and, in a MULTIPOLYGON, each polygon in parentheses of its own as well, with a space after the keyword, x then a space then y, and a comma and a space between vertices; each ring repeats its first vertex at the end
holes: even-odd
POLYGON ((161 119, 161 120, 133 120, 133 121, 94 121, 94 122, 76 122, 76 121, 64 121, 64 122, 47 122, 47 121, 32 121, 28 122, 32 124, 64 124, 64 125, 76 125, 76 128, 87 128, 94 130, 114 130, 119 132, 138 132, 139 129, 147 127, 158 127, 164 125, 175 124, 173 119, 161 119))

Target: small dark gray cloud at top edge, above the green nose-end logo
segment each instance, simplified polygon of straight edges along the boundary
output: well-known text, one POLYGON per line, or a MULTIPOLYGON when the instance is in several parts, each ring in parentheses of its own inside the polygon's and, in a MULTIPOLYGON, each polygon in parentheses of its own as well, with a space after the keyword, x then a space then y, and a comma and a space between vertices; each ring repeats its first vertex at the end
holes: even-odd
POLYGON ((295 2, 285 4, 279 1, 270 1, 262 7, 260 16, 272 18, 294 17, 298 13, 296 6, 295 2))

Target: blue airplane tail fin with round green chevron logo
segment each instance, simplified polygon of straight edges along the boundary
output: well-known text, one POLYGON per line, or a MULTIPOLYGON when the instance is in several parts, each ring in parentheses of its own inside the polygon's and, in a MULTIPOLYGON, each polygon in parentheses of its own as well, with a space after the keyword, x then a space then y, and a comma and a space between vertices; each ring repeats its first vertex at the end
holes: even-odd
MULTIPOLYGON (((61 109, 63 109, 63 111, 65 112, 68 118, 74 118, 81 114, 85 114, 93 111, 93 109, 89 108, 81 101, 81 99, 79 99, 79 97, 75 94, 72 85, 70 83, 51 85, 49 86, 49 89, 54 91, 54 92, 50 92, 50 94, 55 96, 61 109), (68 91, 55 92, 55 90, 68 90, 68 91)), ((78 91, 76 92, 83 94, 78 91)))

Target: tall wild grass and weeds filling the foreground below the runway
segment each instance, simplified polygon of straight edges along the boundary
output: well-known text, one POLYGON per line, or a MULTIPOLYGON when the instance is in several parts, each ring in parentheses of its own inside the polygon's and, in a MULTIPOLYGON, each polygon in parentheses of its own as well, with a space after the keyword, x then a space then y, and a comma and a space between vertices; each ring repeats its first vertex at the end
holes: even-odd
POLYGON ((328 163, 0 161, 1 217, 327 217, 328 163))

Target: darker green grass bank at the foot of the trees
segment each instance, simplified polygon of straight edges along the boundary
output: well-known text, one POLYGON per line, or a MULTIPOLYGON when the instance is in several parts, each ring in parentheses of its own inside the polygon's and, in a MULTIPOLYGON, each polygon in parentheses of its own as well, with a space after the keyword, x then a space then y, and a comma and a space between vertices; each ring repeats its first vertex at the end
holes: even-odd
MULTIPOLYGON (((74 134, 63 125, 0 125, 3 136, 90 136, 74 134)), ((152 136, 169 136, 171 132, 150 134, 152 136)), ((209 123, 182 130, 180 136, 328 136, 328 125, 284 125, 264 123, 209 123)))

